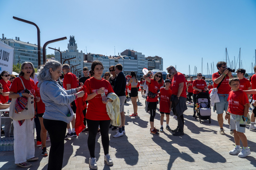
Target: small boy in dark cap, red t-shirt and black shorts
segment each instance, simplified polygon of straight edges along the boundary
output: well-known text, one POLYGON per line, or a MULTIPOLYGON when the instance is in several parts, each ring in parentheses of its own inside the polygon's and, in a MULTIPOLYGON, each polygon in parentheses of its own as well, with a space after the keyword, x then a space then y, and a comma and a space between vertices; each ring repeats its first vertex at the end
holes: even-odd
POLYGON ((160 114, 161 114, 161 118, 160 118, 160 132, 164 132, 164 127, 163 127, 163 123, 164 123, 164 114, 166 115, 166 129, 167 130, 171 130, 171 128, 169 127, 169 120, 170 120, 170 111, 171 111, 171 89, 170 89, 170 85, 171 85, 171 80, 165 80, 164 82, 165 87, 161 88, 159 93, 158 93, 158 97, 160 98, 160 114))

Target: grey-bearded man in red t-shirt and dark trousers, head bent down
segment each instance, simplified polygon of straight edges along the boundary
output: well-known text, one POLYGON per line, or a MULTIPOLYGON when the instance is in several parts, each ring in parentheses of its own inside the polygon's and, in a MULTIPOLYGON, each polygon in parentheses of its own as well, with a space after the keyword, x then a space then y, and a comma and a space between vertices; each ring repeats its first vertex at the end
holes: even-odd
POLYGON ((176 129, 171 130, 174 132, 172 135, 180 136, 184 135, 184 117, 183 112, 187 110, 187 93, 186 93, 186 80, 185 76, 178 72, 173 66, 167 67, 167 72, 173 76, 171 83, 171 101, 173 110, 175 110, 175 115, 177 116, 178 126, 176 129))

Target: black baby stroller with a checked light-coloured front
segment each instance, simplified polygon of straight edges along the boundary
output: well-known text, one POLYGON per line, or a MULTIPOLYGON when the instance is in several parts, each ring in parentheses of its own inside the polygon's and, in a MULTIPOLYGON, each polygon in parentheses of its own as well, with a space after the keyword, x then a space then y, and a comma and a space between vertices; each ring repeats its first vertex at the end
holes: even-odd
POLYGON ((198 117, 200 123, 201 120, 209 119, 209 123, 211 123, 211 102, 208 91, 198 91, 196 99, 199 106, 197 108, 195 119, 198 117))

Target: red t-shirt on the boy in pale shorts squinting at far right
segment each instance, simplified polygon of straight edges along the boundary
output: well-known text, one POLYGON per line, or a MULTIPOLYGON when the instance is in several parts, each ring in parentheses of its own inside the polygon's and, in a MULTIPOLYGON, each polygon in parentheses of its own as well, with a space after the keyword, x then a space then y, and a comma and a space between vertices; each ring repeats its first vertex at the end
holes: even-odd
POLYGON ((249 103, 247 94, 243 90, 230 91, 228 95, 228 112, 243 115, 245 104, 249 103))

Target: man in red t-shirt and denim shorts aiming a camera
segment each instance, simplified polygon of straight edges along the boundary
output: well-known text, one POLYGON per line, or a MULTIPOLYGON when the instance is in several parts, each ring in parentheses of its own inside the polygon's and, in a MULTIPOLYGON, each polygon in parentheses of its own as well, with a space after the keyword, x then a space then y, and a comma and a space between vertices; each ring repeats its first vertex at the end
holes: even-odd
POLYGON ((224 61, 220 61, 216 64, 217 69, 219 70, 217 73, 212 74, 212 81, 214 84, 214 88, 217 88, 218 85, 218 96, 219 101, 218 103, 215 103, 215 106, 213 107, 213 110, 216 110, 216 113, 218 114, 217 119, 220 127, 219 133, 224 135, 223 130, 223 111, 228 109, 228 94, 231 91, 231 88, 229 87, 229 78, 233 77, 232 72, 235 72, 234 70, 227 68, 227 63, 224 61))

